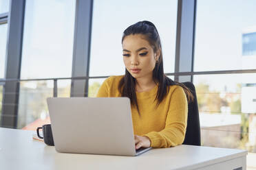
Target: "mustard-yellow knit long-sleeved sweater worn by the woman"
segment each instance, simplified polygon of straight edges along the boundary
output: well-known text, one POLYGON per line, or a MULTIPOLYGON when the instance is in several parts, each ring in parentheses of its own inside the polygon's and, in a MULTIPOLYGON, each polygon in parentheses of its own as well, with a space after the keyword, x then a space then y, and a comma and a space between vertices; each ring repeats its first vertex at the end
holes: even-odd
MULTIPOLYGON (((108 77, 98 90, 97 97, 120 97, 118 84, 123 75, 108 77)), ((145 92, 136 92, 138 108, 131 106, 134 134, 147 136, 151 147, 171 147, 184 141, 188 104, 184 90, 171 86, 167 97, 156 108, 158 86, 145 92)))

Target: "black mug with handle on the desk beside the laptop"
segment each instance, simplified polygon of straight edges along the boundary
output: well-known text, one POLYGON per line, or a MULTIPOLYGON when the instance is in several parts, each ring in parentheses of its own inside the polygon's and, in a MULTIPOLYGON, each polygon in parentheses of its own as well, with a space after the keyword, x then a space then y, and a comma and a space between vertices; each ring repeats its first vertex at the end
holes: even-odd
POLYGON ((43 127, 37 127, 36 133, 37 133, 37 136, 39 136, 39 138, 43 138, 43 141, 45 142, 46 145, 54 146, 51 124, 43 125, 43 127), (39 134, 40 129, 43 130, 43 137, 40 136, 39 134))

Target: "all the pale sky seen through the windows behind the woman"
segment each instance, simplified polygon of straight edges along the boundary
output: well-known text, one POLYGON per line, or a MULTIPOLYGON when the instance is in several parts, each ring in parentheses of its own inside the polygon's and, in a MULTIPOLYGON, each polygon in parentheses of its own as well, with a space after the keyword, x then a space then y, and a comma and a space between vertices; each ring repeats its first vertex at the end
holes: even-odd
MULTIPOLYGON (((178 1, 125 2, 94 1, 89 75, 124 73, 122 32, 142 20, 152 21, 158 28, 164 72, 173 72, 178 1)), ((22 79, 71 77, 75 6, 75 1, 68 0, 26 1, 22 79)), ((242 32, 256 25, 255 6, 254 0, 198 0, 194 71, 255 69, 255 56, 242 57, 242 32)), ((1 27, 0 37, 4 37, 6 32, 1 27)), ((1 41, 3 38, 0 40, 0 54, 4 50, 1 41)), ((0 56, 0 62, 3 62, 3 56, 0 56)), ((3 75, 1 66, 0 77, 3 75)), ((194 80, 195 83, 213 84, 213 88, 223 89, 224 84, 229 84, 233 91, 235 83, 252 80, 252 75, 255 77, 255 74, 197 75, 194 80)))

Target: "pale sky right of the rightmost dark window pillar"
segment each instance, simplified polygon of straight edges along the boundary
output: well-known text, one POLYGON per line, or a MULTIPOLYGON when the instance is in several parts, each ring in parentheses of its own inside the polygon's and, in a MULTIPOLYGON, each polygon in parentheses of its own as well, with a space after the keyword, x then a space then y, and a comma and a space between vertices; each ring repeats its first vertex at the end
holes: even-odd
MULTIPOLYGON (((256 56, 242 56, 242 34, 256 26, 255 6, 254 0, 198 0, 194 71, 256 69, 256 56)), ((256 74, 194 76, 199 82, 235 93, 239 83, 256 83, 256 74)))

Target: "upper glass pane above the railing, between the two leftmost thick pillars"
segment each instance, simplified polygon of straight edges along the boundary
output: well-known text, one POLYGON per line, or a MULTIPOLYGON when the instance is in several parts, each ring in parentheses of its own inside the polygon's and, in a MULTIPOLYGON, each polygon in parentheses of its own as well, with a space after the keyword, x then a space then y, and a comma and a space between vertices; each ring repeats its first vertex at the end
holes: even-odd
POLYGON ((76 1, 26 1, 21 78, 71 77, 76 1))

